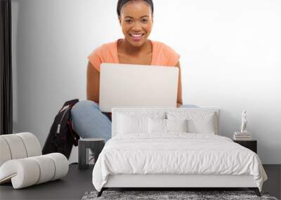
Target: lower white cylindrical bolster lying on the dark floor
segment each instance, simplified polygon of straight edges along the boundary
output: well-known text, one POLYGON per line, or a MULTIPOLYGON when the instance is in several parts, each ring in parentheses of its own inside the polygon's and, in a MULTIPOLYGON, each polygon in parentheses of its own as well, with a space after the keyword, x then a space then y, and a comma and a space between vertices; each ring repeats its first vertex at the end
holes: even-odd
POLYGON ((0 183, 11 180, 14 189, 56 180, 67 175, 68 161, 60 153, 6 161, 0 167, 0 183))

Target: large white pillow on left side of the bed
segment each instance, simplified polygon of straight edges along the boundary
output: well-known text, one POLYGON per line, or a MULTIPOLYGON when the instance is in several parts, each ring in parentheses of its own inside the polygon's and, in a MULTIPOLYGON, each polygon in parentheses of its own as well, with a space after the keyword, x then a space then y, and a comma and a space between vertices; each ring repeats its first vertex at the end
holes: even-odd
POLYGON ((148 118, 164 119, 164 112, 124 112, 117 115, 117 134, 148 133, 148 118))

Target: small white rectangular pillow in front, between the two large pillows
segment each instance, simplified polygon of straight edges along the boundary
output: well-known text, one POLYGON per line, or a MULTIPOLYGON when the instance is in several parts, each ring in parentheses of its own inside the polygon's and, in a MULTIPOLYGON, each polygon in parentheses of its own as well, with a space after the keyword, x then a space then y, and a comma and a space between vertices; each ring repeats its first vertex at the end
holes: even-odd
POLYGON ((149 133, 187 132, 186 119, 148 119, 149 133))

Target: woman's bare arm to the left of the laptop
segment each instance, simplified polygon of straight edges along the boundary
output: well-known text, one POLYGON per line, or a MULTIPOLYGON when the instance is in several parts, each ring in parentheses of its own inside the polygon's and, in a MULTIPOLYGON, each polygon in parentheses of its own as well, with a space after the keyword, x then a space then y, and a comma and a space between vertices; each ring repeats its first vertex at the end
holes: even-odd
POLYGON ((87 100, 98 103, 100 97, 100 72, 88 62, 87 68, 87 100))

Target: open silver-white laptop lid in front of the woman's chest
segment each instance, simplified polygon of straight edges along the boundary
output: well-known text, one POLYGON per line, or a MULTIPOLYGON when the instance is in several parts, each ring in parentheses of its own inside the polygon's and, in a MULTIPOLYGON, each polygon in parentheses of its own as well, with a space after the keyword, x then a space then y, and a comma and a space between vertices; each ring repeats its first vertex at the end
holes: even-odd
POLYGON ((102 112, 112 107, 176 107, 178 67, 102 63, 102 112))

